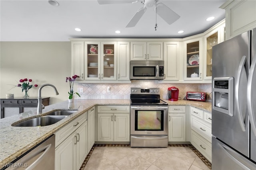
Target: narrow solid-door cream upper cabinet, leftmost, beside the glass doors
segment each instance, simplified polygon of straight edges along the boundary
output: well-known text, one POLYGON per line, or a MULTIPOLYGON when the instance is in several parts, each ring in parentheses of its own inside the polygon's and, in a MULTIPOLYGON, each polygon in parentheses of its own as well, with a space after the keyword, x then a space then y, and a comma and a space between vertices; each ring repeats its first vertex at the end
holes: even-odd
POLYGON ((84 80, 84 41, 71 41, 71 75, 84 80))

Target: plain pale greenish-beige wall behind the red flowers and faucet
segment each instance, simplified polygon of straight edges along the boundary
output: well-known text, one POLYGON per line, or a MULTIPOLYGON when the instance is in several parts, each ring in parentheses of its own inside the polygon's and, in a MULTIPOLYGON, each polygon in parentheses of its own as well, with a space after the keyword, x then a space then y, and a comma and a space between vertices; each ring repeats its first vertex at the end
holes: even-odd
MULTIPOLYGON (((66 77, 71 76, 71 43, 68 42, 0 42, 0 98, 6 93, 21 97, 21 88, 8 84, 18 84, 20 79, 32 79, 38 87, 29 90, 30 97, 38 97, 42 84, 56 86, 56 96, 50 86, 42 88, 42 96, 50 97, 50 104, 68 100, 69 84, 66 77), (11 89, 12 88, 12 89, 11 89)), ((76 87, 74 87, 76 89, 76 87)))

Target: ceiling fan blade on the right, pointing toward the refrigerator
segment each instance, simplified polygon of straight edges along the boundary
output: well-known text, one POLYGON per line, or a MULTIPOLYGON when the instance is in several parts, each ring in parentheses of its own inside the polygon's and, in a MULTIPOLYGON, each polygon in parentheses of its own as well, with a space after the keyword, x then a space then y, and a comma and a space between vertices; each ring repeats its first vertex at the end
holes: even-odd
POLYGON ((158 14, 164 21, 166 21, 169 25, 174 23, 176 20, 180 18, 176 12, 168 8, 163 3, 157 4, 156 14, 158 14))

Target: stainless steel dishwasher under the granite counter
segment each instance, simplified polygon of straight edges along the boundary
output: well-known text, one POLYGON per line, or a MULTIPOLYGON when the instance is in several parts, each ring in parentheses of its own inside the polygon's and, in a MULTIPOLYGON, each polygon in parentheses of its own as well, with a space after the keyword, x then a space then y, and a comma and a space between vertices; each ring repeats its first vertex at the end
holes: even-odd
POLYGON ((54 170, 55 135, 51 135, 1 170, 54 170))

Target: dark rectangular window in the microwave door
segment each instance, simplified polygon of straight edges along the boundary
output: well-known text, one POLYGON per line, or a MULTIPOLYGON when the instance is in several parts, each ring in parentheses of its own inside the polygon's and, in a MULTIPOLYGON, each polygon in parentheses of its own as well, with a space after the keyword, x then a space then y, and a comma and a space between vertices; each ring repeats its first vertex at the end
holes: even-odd
POLYGON ((133 66, 133 76, 134 77, 155 77, 156 67, 155 66, 133 66))

